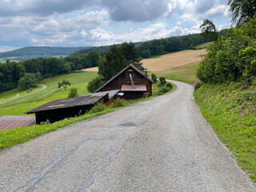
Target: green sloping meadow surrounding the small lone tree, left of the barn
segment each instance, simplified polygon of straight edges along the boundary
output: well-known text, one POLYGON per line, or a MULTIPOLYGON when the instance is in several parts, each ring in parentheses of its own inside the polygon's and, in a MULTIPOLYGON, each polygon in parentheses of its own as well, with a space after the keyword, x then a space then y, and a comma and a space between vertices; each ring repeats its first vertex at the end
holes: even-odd
MULTIPOLYGON (((48 78, 39 82, 39 84, 46 85, 45 90, 39 91, 38 93, 28 95, 24 98, 18 98, 14 101, 6 102, 0 104, 0 117, 2 115, 24 115, 27 110, 32 110, 37 106, 41 106, 46 102, 52 100, 67 98, 70 86, 67 90, 64 88, 58 89, 58 82, 62 82, 63 79, 68 80, 71 83, 71 87, 78 88, 78 94, 89 94, 86 89, 87 83, 91 78, 96 77, 98 74, 96 72, 81 72, 73 74, 65 74, 54 78, 48 78)), ((41 89, 42 87, 39 87, 41 89)), ((12 90, 6 94, 1 94, 2 98, 13 98, 14 95, 24 94, 21 90, 12 90), (10 96, 11 95, 11 96, 10 96)), ((26 94, 26 92, 25 92, 26 94)), ((3 100, 2 100, 3 101, 3 100)))

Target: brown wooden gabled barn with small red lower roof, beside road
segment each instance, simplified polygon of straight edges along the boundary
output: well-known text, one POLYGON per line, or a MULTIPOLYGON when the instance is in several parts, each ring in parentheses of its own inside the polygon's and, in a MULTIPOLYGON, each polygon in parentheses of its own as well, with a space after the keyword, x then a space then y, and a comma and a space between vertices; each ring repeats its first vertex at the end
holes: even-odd
POLYGON ((152 96, 152 83, 154 82, 147 76, 147 70, 143 73, 136 66, 130 64, 96 90, 95 93, 121 90, 124 99, 146 98, 152 96))

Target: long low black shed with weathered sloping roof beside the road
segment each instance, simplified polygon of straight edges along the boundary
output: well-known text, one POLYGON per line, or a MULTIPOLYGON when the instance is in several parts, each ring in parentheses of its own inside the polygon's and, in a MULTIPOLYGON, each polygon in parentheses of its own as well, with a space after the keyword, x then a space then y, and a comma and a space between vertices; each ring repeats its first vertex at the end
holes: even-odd
POLYGON ((97 103, 109 106, 114 102, 114 98, 119 90, 104 91, 96 94, 85 94, 77 98, 65 98, 47 102, 33 110, 26 111, 26 114, 35 114, 36 123, 58 122, 64 118, 75 117, 78 114, 86 114, 87 111, 97 103))

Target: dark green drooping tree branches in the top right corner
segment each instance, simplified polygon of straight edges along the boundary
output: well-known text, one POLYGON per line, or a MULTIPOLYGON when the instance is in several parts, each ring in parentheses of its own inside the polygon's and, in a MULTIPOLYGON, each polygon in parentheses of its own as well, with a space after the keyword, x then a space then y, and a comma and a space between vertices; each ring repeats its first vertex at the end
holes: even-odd
POLYGON ((245 24, 256 14, 256 0, 229 0, 233 24, 245 24))

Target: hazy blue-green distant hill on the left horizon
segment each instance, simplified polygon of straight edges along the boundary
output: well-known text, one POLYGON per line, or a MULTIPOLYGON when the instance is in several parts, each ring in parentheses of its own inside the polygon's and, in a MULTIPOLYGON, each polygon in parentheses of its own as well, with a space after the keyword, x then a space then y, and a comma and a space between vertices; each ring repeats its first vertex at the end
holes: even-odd
POLYGON ((21 61, 30 58, 50 58, 54 56, 66 56, 75 51, 88 49, 90 46, 58 47, 58 46, 26 46, 18 50, 0 53, 2 60, 21 61))

